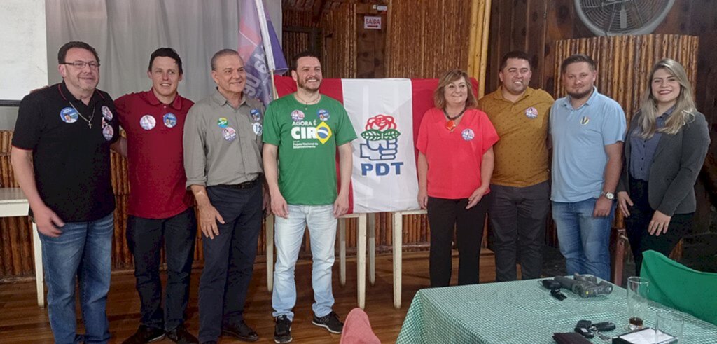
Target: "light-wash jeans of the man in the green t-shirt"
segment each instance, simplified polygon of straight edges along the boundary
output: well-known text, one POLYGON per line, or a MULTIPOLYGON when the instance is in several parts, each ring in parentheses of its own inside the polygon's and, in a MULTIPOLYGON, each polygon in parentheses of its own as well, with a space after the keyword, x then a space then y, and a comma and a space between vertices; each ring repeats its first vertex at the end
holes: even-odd
POLYGON ((274 269, 274 291, 272 293, 272 316, 286 315, 294 319, 291 310, 296 304, 296 282, 294 270, 308 225, 311 240, 311 286, 314 303, 311 309, 317 317, 331 313, 333 291, 331 289, 331 268, 333 248, 336 243, 336 218, 333 205, 289 205, 289 218, 276 218, 274 242, 276 265, 274 269))

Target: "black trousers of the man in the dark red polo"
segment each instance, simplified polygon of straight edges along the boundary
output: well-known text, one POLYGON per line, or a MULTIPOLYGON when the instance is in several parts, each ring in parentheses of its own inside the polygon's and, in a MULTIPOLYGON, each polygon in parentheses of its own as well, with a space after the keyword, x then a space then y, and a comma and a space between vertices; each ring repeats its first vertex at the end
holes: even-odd
POLYGON ((130 215, 126 234, 135 262, 137 292, 141 302, 140 321, 148 327, 174 330, 184 322, 184 310, 189 301, 191 262, 196 240, 194 208, 163 219, 130 215), (164 310, 161 305, 162 282, 159 279, 162 242, 168 275, 164 310))

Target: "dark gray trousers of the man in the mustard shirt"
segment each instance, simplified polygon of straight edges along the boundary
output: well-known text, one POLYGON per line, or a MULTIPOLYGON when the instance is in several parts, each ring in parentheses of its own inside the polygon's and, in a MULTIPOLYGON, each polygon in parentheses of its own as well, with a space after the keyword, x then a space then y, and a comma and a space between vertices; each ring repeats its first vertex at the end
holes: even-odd
POLYGON ((523 279, 540 277, 549 208, 547 181, 529 187, 490 185, 488 218, 493 229, 495 282, 517 279, 517 256, 523 279))

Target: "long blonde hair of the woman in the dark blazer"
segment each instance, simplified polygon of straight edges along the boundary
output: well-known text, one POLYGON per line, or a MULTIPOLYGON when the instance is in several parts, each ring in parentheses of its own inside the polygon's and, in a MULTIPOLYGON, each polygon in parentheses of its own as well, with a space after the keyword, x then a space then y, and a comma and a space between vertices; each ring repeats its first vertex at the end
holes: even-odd
POLYGON ((647 79, 647 89, 642 96, 642 104, 640 105, 640 119, 637 126, 640 128, 639 136, 642 139, 650 139, 655 132, 674 135, 677 134, 682 126, 690 123, 695 118, 695 98, 692 90, 692 84, 687 78, 685 68, 679 62, 672 59, 664 59, 655 63, 650 72, 650 78, 647 79), (657 100, 652 95, 652 78, 655 77, 657 70, 665 70, 680 83, 680 95, 675 102, 673 113, 665 121, 665 126, 657 128, 657 117, 662 113, 657 113, 657 100))

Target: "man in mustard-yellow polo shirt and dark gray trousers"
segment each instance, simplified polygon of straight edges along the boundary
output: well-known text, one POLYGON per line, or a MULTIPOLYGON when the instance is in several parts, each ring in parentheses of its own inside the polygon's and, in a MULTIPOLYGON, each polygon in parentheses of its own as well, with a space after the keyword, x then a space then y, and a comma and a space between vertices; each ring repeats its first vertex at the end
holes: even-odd
POLYGON ((488 206, 496 282, 517 279, 516 256, 523 279, 538 278, 541 272, 550 205, 548 116, 554 100, 544 90, 528 87, 531 75, 530 57, 508 52, 500 62, 500 87, 478 101, 500 136, 493 146, 488 206))

